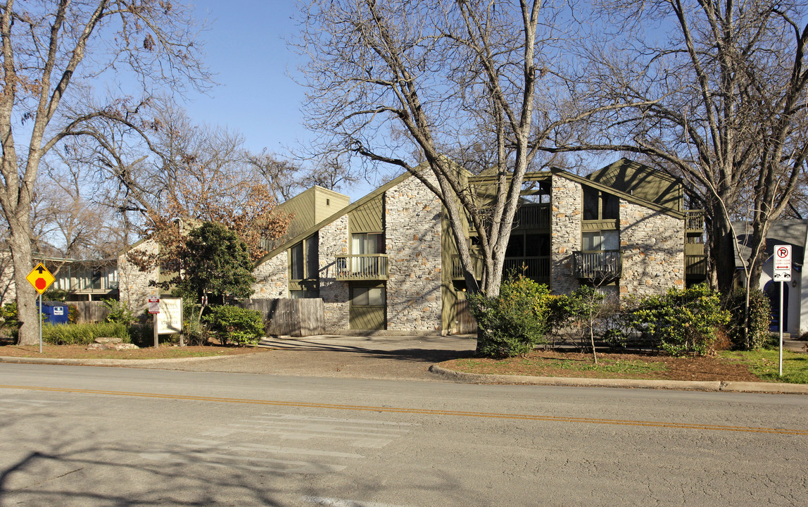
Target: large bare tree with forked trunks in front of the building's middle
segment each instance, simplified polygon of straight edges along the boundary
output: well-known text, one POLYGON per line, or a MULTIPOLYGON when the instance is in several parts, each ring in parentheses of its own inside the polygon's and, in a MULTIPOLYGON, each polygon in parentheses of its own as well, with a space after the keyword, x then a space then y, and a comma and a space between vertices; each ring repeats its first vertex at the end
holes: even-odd
POLYGON ((430 188, 461 239, 465 282, 474 292, 499 294, 524 174, 540 147, 593 113, 568 100, 559 55, 571 31, 562 6, 322 0, 301 13, 299 48, 309 57, 303 111, 322 134, 318 142, 402 167, 430 188), (492 154, 484 191, 451 159, 481 138, 492 154), (482 285, 465 242, 466 216, 479 239, 482 285))

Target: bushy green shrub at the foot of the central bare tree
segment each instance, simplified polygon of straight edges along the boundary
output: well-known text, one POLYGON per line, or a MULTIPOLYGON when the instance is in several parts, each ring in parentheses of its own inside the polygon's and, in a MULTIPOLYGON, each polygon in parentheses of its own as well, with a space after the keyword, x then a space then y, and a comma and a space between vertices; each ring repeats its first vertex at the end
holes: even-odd
POLYGON ((469 308, 478 323, 477 352, 513 357, 544 343, 552 299, 546 285, 521 275, 505 281, 495 298, 469 295, 469 308))

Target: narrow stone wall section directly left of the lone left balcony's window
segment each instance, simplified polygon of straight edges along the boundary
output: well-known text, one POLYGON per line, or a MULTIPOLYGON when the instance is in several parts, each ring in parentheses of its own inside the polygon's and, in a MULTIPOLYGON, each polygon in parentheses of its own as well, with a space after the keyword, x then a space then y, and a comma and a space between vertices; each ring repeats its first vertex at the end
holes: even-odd
POLYGON ((350 325, 347 281, 338 281, 336 256, 348 253, 348 216, 324 226, 318 234, 320 298, 326 314, 326 329, 348 329, 350 325))

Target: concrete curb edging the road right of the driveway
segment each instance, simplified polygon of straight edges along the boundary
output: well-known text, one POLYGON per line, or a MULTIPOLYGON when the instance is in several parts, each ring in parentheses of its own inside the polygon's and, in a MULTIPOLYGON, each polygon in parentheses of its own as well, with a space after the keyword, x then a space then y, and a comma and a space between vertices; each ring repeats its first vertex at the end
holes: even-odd
POLYGON ((431 365, 429 371, 456 382, 471 384, 527 384, 570 387, 632 387, 635 389, 675 389, 680 391, 728 391, 808 395, 808 385, 770 382, 722 382, 686 380, 635 380, 629 378, 531 377, 528 375, 469 374, 431 365))

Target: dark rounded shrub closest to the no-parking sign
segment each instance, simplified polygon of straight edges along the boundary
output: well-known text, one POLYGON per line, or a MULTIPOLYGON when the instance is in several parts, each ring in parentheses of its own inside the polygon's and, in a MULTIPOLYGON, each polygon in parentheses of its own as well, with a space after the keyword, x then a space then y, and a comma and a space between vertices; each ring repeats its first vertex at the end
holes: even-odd
POLYGON ((724 307, 730 315, 735 315, 726 326, 733 349, 760 349, 768 344, 768 327, 772 323, 772 308, 768 297, 760 289, 749 292, 749 332, 743 339, 743 307, 746 305, 746 289, 735 289, 726 298, 724 307))

